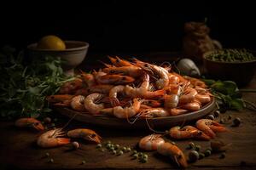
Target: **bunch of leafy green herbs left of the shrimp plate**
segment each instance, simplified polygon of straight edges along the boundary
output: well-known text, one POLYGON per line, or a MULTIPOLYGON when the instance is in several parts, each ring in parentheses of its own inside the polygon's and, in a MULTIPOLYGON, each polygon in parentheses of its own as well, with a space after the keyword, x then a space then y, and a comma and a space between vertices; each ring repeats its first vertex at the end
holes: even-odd
POLYGON ((38 117, 49 113, 47 95, 58 92, 65 77, 61 59, 45 58, 25 61, 24 52, 5 47, 0 53, 0 114, 3 117, 38 117))

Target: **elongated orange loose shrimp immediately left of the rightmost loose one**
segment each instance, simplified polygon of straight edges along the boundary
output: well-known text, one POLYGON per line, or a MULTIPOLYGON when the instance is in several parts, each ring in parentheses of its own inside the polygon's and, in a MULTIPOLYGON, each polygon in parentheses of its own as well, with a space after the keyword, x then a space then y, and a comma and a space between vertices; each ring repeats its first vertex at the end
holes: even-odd
POLYGON ((192 126, 185 126, 181 127, 172 127, 169 130, 169 134, 174 139, 193 139, 193 138, 200 138, 209 140, 210 138, 207 134, 201 132, 201 130, 192 127, 192 126))

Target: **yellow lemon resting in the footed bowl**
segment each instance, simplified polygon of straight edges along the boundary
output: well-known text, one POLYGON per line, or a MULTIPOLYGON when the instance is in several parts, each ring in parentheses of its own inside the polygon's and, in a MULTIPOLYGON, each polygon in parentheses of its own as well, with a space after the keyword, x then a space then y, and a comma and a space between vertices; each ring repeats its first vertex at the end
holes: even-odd
POLYGON ((65 42, 60 37, 56 36, 45 36, 38 42, 38 48, 40 49, 51 49, 51 50, 63 50, 66 48, 65 42))

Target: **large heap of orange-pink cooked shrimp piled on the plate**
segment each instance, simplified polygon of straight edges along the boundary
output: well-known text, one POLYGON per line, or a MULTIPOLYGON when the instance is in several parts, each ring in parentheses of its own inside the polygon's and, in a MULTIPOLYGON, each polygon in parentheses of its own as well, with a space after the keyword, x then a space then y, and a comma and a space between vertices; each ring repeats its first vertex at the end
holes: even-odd
POLYGON ((63 84, 59 94, 47 97, 49 103, 95 116, 152 118, 198 111, 212 100, 204 82, 181 76, 171 66, 109 59, 105 68, 81 71, 63 84))

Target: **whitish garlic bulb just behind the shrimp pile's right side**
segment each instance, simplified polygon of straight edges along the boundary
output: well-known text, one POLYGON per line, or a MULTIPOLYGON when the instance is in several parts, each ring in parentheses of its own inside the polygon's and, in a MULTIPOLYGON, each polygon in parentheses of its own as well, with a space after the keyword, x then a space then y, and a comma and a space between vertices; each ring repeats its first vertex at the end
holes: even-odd
POLYGON ((181 74, 189 77, 200 77, 201 72, 198 67, 195 65, 192 59, 181 59, 177 63, 177 68, 181 74))

